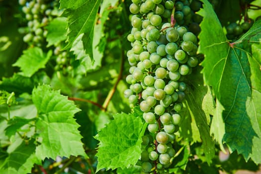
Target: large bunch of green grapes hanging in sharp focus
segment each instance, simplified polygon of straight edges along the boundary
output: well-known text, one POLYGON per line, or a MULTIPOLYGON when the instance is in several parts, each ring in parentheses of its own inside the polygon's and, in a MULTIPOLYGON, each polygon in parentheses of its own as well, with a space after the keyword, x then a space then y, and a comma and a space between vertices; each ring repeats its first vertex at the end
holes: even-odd
MULTIPOLYGON (((127 36, 132 46, 127 52, 131 67, 126 77, 130 87, 124 96, 132 107, 139 105, 148 123, 142 137, 146 147, 141 154, 142 173, 152 169, 163 173, 175 155, 174 133, 179 128, 182 100, 188 88, 185 79, 198 65, 197 37, 187 26, 193 20, 186 18, 193 10, 187 0, 132 2, 132 29, 127 36)), ((196 4, 192 5, 195 9, 196 4)))

